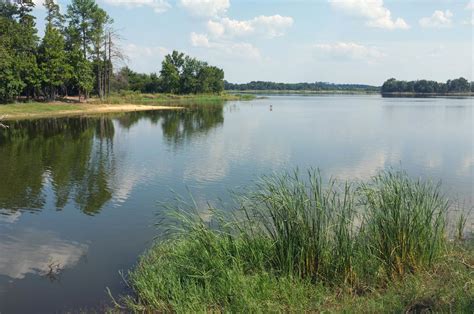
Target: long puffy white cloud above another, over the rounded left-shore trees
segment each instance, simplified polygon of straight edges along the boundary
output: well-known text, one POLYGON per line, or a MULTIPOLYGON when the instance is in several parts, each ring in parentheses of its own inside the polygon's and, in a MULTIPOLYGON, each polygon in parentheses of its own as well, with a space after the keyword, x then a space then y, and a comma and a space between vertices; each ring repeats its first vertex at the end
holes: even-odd
POLYGON ((215 38, 239 37, 252 34, 263 35, 268 38, 283 36, 293 25, 293 18, 281 15, 260 15, 251 20, 233 20, 228 17, 219 20, 209 20, 207 29, 215 38))

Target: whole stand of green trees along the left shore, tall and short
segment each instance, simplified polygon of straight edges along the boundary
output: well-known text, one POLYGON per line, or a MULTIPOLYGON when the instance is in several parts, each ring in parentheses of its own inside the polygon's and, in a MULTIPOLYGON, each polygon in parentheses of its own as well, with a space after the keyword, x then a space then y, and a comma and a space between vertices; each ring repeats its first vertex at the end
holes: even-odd
POLYGON ((0 0, 0 103, 19 98, 107 97, 112 91, 219 93, 224 71, 177 51, 157 75, 128 68, 114 73, 125 57, 113 19, 95 0, 71 0, 61 12, 45 0, 46 27, 39 38, 33 0, 0 0))

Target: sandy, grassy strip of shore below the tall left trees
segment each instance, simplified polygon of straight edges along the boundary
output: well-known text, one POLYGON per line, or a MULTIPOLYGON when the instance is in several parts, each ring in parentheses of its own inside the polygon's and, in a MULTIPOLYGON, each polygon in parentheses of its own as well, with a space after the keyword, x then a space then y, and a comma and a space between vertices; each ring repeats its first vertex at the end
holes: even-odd
POLYGON ((152 110, 179 110, 179 106, 135 105, 135 104, 81 104, 81 103, 18 103, 0 105, 3 121, 36 118, 80 116, 101 113, 119 113, 152 110))

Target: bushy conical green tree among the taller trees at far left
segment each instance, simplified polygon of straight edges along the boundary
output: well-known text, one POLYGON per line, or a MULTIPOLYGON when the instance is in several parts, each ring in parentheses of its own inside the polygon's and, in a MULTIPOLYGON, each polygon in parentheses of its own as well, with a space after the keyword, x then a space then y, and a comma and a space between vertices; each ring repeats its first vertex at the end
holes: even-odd
POLYGON ((70 77, 70 65, 64 51, 64 38, 53 22, 46 25, 46 31, 39 49, 39 64, 42 74, 42 88, 47 99, 55 100, 58 88, 70 77))

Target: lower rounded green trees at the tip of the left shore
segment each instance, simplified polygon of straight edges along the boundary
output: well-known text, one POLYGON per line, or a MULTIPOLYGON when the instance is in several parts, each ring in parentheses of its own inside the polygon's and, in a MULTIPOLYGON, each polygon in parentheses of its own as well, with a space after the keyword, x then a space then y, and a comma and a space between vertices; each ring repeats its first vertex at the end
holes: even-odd
POLYGON ((128 67, 114 74, 112 91, 142 93, 200 94, 224 90, 224 71, 206 62, 173 51, 167 55, 159 74, 137 73, 128 67))

